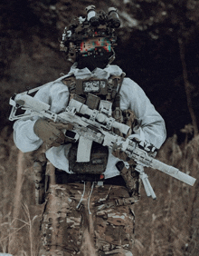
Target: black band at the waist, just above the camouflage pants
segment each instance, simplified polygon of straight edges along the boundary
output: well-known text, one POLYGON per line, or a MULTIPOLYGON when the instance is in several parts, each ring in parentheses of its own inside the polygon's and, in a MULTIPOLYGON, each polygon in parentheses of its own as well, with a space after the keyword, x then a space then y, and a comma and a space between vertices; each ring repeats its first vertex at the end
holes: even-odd
POLYGON ((126 183, 123 178, 118 175, 113 178, 104 179, 104 176, 101 174, 83 174, 83 173, 74 173, 70 174, 68 172, 55 169, 55 182, 58 184, 67 184, 74 182, 103 182, 104 184, 119 185, 125 186, 126 183))

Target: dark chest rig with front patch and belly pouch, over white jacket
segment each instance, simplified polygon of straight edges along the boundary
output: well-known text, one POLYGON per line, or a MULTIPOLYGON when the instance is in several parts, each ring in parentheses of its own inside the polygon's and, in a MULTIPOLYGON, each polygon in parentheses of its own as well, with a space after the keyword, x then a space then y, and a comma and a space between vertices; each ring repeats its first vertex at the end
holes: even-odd
MULTIPOLYGON (((70 76, 63 79, 62 83, 69 88, 70 101, 74 99, 86 104, 91 110, 100 110, 119 123, 124 123, 128 112, 122 112, 119 105, 119 91, 124 76, 124 73, 120 76, 111 75, 109 79, 76 79, 70 76)), ((114 133, 121 135, 115 128, 114 133)), ((72 172, 101 174, 105 172, 108 155, 107 147, 80 138, 79 142, 71 145, 68 154, 69 168, 72 172)))

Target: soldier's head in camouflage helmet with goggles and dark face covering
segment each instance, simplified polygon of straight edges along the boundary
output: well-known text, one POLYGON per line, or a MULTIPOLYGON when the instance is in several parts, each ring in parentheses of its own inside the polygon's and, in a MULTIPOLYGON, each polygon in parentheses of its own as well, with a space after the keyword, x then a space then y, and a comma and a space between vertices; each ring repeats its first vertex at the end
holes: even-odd
POLYGON ((116 8, 110 7, 108 13, 96 13, 95 6, 86 7, 85 17, 75 17, 69 27, 65 27, 60 44, 68 61, 78 62, 79 68, 104 68, 115 59, 116 28, 120 26, 116 8))

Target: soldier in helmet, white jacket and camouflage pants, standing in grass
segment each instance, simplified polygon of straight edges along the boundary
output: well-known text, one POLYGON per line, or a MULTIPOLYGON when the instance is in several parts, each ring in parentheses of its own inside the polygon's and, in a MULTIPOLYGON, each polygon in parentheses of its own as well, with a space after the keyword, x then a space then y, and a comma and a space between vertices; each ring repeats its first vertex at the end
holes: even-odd
MULTIPOLYGON (((71 71, 34 97, 51 104, 54 113, 62 113, 71 98, 90 109, 99 110, 102 104, 109 115, 130 126, 128 138, 159 149, 166 139, 163 118, 143 90, 111 64, 120 25, 117 10, 96 13, 93 5, 86 10, 87 16, 73 19, 62 34, 61 50, 72 63, 71 71)), ((111 152, 99 143, 91 149, 84 141, 74 143, 71 133, 71 124, 39 117, 14 123, 16 146, 31 152, 44 143, 45 156, 55 168, 45 195, 39 255, 133 255, 132 205, 139 200, 134 162, 127 162, 117 148, 111 152)), ((35 166, 40 163, 45 166, 45 159, 35 166)))

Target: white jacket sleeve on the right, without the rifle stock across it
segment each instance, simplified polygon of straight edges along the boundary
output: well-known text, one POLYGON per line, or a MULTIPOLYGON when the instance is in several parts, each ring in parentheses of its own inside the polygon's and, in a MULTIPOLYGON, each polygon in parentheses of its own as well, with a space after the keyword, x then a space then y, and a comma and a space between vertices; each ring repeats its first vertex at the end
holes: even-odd
POLYGON ((159 149, 166 140, 166 125, 162 116, 156 112, 141 87, 131 79, 125 78, 122 87, 121 105, 128 103, 127 107, 137 116, 138 125, 134 128, 134 132, 159 149))

